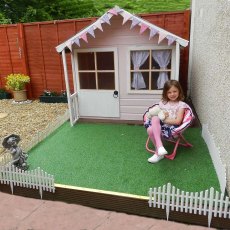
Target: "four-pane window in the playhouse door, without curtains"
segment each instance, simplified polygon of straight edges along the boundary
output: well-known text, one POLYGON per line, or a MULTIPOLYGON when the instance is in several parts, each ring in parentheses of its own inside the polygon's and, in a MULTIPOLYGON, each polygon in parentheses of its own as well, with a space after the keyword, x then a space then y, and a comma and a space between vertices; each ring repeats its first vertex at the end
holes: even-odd
POLYGON ((115 89, 113 52, 78 53, 78 74, 81 89, 115 89))

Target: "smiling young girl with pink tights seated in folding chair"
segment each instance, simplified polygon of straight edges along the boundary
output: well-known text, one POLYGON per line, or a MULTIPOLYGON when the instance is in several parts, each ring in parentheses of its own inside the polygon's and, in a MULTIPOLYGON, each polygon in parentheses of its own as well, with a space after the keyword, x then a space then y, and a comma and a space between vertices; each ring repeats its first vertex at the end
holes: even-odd
POLYGON ((165 119, 161 121, 157 116, 152 117, 151 125, 147 128, 147 133, 155 145, 157 154, 148 159, 150 163, 156 163, 168 154, 161 140, 161 135, 166 138, 171 136, 171 130, 178 127, 184 116, 187 104, 184 103, 184 94, 180 83, 176 80, 169 80, 163 88, 162 100, 159 107, 164 111, 165 119))

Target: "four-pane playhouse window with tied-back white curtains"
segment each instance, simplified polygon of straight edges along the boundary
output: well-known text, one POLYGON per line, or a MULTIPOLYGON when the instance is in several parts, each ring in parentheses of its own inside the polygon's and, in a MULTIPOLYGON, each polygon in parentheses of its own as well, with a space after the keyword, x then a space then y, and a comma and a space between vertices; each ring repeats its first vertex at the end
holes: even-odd
POLYGON ((130 52, 130 89, 160 90, 171 78, 170 49, 133 50, 130 52))

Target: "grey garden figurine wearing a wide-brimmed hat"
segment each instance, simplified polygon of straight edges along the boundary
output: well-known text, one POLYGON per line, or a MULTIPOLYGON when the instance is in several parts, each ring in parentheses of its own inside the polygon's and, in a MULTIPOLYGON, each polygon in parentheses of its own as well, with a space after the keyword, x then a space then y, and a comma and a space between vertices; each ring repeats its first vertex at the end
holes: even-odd
POLYGON ((19 169, 27 170, 29 167, 26 162, 28 155, 18 146, 20 140, 20 136, 11 134, 4 138, 2 146, 10 151, 13 157, 11 161, 12 165, 15 165, 19 169))

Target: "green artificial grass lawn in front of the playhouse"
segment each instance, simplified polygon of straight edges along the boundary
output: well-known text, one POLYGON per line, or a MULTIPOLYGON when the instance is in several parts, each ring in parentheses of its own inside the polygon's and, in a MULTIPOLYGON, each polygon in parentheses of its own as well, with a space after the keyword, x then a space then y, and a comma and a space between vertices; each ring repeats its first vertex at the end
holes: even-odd
MULTIPOLYGON (((172 183, 187 192, 220 190, 200 128, 185 137, 194 145, 179 147, 176 158, 150 164, 146 130, 140 125, 66 122, 29 152, 30 170, 40 167, 55 183, 147 195, 150 187, 172 183)), ((165 143, 172 150, 171 143, 165 143)))

